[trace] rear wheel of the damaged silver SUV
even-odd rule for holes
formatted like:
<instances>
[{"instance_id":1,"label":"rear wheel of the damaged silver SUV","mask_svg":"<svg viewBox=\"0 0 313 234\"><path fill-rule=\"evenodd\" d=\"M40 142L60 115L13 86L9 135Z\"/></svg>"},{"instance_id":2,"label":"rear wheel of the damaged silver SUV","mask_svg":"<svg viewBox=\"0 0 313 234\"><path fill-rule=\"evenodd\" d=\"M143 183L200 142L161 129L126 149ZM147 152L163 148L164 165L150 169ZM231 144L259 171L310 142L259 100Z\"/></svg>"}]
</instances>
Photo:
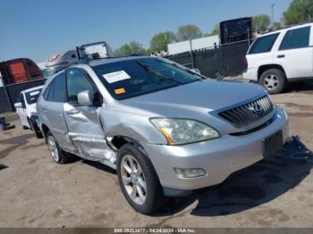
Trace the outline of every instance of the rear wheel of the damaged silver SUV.
<instances>
[{"instance_id":1,"label":"rear wheel of the damaged silver SUV","mask_svg":"<svg viewBox=\"0 0 313 234\"><path fill-rule=\"evenodd\" d=\"M52 159L55 161L55 163L67 163L69 160L68 156L63 153L63 150L60 148L55 137L50 131L47 132L46 140L50 155L52 156Z\"/></svg>"}]
</instances>

